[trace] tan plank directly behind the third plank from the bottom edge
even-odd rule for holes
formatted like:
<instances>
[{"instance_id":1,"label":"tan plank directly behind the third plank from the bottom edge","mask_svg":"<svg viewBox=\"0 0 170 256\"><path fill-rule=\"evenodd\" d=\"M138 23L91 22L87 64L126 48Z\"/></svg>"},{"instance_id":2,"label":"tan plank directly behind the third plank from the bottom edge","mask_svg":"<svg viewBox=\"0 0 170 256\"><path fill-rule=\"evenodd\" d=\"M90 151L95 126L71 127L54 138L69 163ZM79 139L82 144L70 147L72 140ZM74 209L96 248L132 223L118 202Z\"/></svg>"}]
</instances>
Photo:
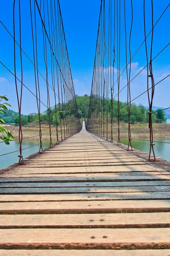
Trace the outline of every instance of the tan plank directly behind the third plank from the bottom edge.
<instances>
[{"instance_id":1,"label":"tan plank directly behind the third plank from the bottom edge","mask_svg":"<svg viewBox=\"0 0 170 256\"><path fill-rule=\"evenodd\" d=\"M0 203L1 214L169 212L170 200Z\"/></svg>"}]
</instances>

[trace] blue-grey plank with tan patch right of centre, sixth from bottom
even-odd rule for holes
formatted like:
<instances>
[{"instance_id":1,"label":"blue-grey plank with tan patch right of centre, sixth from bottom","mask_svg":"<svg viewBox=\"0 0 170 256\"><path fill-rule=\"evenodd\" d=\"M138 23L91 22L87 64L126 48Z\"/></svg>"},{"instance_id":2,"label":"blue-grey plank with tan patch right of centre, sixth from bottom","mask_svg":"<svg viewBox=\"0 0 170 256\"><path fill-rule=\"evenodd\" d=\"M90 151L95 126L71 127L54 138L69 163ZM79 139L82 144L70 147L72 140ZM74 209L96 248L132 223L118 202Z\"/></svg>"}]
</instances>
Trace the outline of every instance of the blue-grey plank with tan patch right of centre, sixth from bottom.
<instances>
[{"instance_id":1,"label":"blue-grey plank with tan patch right of centre, sixth from bottom","mask_svg":"<svg viewBox=\"0 0 170 256\"><path fill-rule=\"evenodd\" d=\"M124 186L124 187L68 187L68 188L0 188L0 194L77 194L121 192L170 192L170 186Z\"/></svg>"}]
</instances>

